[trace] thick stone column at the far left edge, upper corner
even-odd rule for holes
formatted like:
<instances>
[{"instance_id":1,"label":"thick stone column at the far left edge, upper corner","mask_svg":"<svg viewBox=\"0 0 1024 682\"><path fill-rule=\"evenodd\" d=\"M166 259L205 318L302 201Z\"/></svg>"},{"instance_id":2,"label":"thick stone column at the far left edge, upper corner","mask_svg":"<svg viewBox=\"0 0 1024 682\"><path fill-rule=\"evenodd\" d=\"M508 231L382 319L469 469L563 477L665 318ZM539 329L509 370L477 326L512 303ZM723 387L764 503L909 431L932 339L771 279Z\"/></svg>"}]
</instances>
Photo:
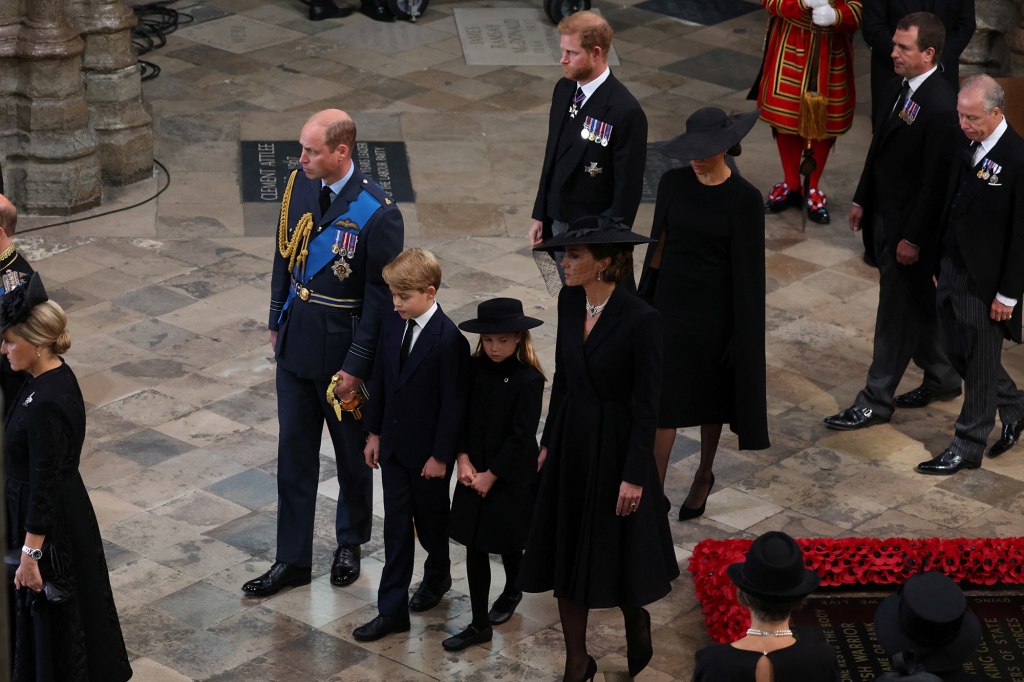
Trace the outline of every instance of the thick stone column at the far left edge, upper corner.
<instances>
[{"instance_id":1,"label":"thick stone column at the far left edge, upper corner","mask_svg":"<svg viewBox=\"0 0 1024 682\"><path fill-rule=\"evenodd\" d=\"M68 215L100 202L84 43L66 2L0 0L0 140L7 191L27 213Z\"/></svg>"}]
</instances>

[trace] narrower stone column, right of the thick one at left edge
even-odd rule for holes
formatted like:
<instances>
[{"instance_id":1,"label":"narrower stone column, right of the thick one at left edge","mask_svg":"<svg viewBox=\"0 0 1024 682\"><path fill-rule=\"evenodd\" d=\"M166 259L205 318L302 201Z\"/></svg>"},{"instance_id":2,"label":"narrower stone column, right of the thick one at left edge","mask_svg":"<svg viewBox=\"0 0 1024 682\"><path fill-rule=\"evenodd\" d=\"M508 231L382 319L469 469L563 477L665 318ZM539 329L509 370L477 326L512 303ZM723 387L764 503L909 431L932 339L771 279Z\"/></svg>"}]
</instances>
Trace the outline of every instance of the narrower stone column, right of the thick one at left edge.
<instances>
[{"instance_id":1,"label":"narrower stone column, right of the thick one at left edge","mask_svg":"<svg viewBox=\"0 0 1024 682\"><path fill-rule=\"evenodd\" d=\"M82 75L99 142L103 184L141 180L153 171L153 119L131 45L135 14L122 0L71 0L71 23L85 41Z\"/></svg>"}]
</instances>

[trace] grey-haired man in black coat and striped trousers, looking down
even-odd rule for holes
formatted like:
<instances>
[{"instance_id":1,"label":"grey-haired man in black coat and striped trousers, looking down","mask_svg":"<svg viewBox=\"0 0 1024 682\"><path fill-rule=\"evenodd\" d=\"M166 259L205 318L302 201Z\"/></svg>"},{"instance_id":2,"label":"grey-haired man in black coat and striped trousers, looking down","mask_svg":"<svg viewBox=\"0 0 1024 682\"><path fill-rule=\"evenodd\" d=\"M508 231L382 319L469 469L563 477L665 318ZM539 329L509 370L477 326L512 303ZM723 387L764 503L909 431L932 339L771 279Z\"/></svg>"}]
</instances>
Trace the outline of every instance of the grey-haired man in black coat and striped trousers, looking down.
<instances>
[{"instance_id":1,"label":"grey-haired man in black coat and striped trousers, looking down","mask_svg":"<svg viewBox=\"0 0 1024 682\"><path fill-rule=\"evenodd\" d=\"M1021 342L1024 294L1024 139L1002 116L1002 88L989 76L964 82L956 100L971 148L948 183L937 305L946 352L964 377L955 435L920 473L977 469L998 410L998 457L1024 430L1024 391L1002 368L1002 340Z\"/></svg>"}]
</instances>

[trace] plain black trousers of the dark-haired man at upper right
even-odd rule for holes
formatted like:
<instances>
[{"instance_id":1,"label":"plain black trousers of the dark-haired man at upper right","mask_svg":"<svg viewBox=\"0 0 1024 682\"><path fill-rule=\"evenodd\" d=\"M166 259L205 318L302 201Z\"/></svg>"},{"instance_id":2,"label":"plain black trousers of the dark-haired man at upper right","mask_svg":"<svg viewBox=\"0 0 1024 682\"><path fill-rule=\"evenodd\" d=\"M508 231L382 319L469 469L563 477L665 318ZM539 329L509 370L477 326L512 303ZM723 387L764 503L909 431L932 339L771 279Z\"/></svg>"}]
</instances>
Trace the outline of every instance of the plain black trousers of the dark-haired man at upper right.
<instances>
[{"instance_id":1,"label":"plain black trousers of the dark-haired man at upper right","mask_svg":"<svg viewBox=\"0 0 1024 682\"><path fill-rule=\"evenodd\" d=\"M881 219L876 219L874 228L880 273L874 349L867 383L854 404L891 417L896 388L911 359L924 370L922 385L929 390L951 391L959 386L961 378L946 357L935 308L924 305L907 286L905 273L900 271L906 266L896 262L895 245L888 244Z\"/></svg>"}]
</instances>

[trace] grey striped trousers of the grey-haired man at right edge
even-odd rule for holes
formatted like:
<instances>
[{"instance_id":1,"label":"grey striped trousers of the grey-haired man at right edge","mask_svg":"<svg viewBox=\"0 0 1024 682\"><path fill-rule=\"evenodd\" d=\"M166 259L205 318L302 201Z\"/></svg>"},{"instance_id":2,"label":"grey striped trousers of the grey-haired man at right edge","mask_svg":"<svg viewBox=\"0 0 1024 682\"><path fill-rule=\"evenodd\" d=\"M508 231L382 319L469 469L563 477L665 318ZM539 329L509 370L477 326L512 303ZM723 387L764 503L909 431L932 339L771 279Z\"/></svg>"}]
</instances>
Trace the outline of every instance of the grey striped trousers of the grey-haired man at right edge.
<instances>
[{"instance_id":1,"label":"grey striped trousers of the grey-haired man at right edge","mask_svg":"<svg viewBox=\"0 0 1024 682\"><path fill-rule=\"evenodd\" d=\"M936 306L946 351L964 377L964 407L949 445L954 454L981 462L995 413L1004 423L1024 419L1024 392L1002 369L1002 327L989 317L992 302L982 299L968 271L942 258Z\"/></svg>"}]
</instances>

